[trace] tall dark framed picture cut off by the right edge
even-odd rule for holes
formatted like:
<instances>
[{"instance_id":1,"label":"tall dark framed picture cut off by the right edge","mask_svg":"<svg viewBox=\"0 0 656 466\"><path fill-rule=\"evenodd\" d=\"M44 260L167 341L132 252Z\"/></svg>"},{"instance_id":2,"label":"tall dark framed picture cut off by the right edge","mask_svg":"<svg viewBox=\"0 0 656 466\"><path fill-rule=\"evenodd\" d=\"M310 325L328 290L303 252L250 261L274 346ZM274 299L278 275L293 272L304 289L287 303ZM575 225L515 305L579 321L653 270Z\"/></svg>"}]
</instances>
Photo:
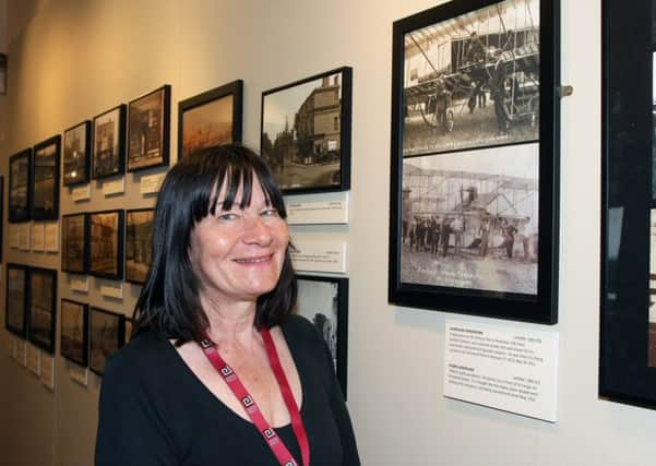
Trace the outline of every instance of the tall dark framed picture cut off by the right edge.
<instances>
[{"instance_id":1,"label":"tall dark framed picture cut off by the right edge","mask_svg":"<svg viewBox=\"0 0 656 466\"><path fill-rule=\"evenodd\" d=\"M656 409L656 10L601 5L599 396Z\"/></svg>"}]
</instances>

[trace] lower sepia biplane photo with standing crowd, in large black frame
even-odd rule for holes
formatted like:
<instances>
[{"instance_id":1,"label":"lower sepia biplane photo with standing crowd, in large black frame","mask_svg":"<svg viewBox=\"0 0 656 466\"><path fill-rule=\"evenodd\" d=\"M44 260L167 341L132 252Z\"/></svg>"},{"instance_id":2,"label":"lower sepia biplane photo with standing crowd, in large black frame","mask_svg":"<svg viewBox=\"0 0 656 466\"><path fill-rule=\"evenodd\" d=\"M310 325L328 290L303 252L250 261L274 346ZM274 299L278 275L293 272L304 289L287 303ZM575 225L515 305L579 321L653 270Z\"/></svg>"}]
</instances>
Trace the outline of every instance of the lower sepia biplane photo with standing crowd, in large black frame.
<instances>
[{"instance_id":1,"label":"lower sepia biplane photo with standing crowd, in large black frame","mask_svg":"<svg viewBox=\"0 0 656 466\"><path fill-rule=\"evenodd\" d=\"M537 294L537 144L405 159L401 279Z\"/></svg>"}]
</instances>

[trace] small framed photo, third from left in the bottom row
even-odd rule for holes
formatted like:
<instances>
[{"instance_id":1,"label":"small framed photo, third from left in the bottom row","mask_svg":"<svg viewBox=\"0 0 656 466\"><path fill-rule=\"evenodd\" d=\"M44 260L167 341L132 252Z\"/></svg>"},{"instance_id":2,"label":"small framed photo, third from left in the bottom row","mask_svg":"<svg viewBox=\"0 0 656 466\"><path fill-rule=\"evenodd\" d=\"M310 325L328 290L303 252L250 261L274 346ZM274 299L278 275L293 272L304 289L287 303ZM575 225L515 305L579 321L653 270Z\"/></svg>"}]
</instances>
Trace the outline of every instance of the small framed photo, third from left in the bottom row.
<instances>
[{"instance_id":1,"label":"small framed photo, third from left in the bottom row","mask_svg":"<svg viewBox=\"0 0 656 466\"><path fill-rule=\"evenodd\" d=\"M88 357L88 304L61 300L61 335L59 353L83 368Z\"/></svg>"}]
</instances>

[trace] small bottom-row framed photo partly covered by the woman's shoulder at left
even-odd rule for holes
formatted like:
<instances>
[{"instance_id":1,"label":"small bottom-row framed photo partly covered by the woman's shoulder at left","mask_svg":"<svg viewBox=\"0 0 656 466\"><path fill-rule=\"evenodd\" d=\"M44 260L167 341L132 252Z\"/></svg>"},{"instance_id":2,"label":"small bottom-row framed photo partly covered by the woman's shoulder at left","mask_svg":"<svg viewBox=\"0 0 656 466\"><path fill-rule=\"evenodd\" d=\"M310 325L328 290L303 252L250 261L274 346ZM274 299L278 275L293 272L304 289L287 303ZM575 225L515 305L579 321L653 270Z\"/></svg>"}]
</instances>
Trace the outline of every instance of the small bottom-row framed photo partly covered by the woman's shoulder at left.
<instances>
[{"instance_id":1,"label":"small bottom-row framed photo partly covered by the woman's shoulder at left","mask_svg":"<svg viewBox=\"0 0 656 466\"><path fill-rule=\"evenodd\" d=\"M124 319L123 314L91 308L88 368L98 375L103 375L107 358L123 346Z\"/></svg>"}]
</instances>

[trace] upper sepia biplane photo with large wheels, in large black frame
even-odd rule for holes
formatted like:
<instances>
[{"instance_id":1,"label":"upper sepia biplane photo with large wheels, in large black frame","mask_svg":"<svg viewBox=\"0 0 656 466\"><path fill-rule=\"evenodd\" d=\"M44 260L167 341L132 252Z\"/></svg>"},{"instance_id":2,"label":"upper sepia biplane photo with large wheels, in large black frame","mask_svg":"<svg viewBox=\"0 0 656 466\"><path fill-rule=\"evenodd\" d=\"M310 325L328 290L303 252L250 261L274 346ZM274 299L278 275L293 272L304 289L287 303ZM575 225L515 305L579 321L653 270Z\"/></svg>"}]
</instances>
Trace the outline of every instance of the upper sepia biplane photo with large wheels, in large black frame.
<instances>
[{"instance_id":1,"label":"upper sepia biplane photo with large wheels, in large black frame","mask_svg":"<svg viewBox=\"0 0 656 466\"><path fill-rule=\"evenodd\" d=\"M539 139L539 0L506 0L404 37L403 154Z\"/></svg>"}]
</instances>

